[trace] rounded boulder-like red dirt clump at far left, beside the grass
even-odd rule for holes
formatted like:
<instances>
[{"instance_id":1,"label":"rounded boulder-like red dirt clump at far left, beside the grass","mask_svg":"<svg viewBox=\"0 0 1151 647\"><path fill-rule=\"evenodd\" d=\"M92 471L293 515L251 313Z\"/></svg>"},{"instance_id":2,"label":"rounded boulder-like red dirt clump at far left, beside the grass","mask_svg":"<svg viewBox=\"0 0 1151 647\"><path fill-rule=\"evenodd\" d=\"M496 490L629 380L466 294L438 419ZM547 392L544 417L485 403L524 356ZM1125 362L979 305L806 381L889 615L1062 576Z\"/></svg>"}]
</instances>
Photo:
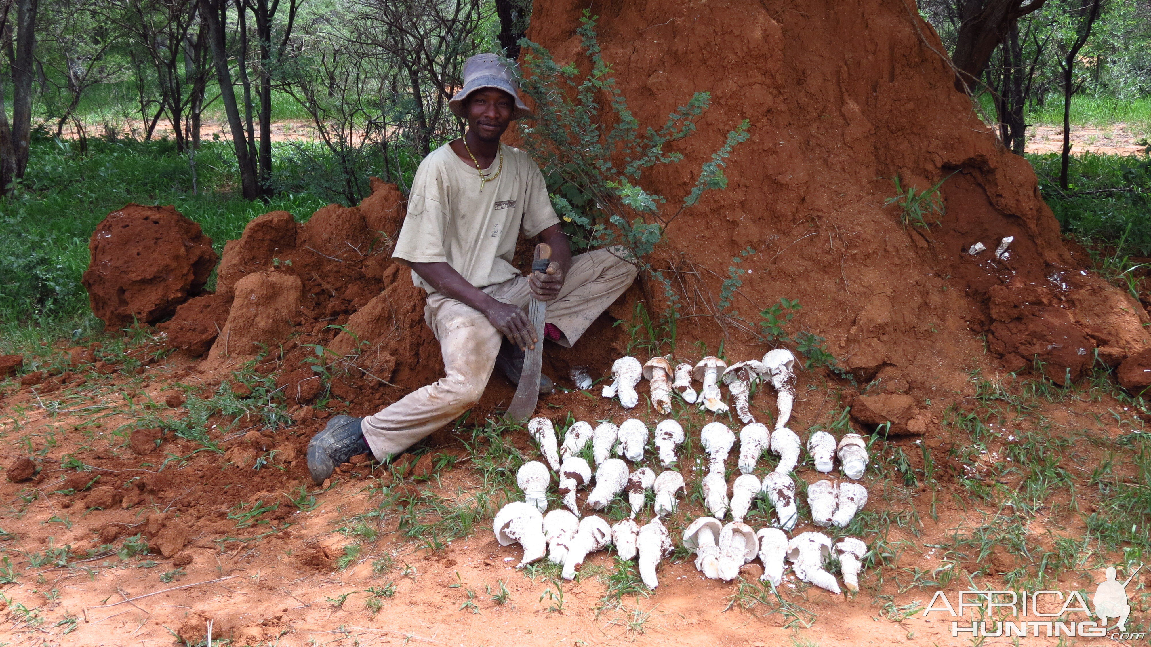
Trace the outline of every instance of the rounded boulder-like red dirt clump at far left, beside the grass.
<instances>
[{"instance_id":1,"label":"rounded boulder-like red dirt clump at far left, beside the grass","mask_svg":"<svg viewBox=\"0 0 1151 647\"><path fill-rule=\"evenodd\" d=\"M125 205L104 219L84 272L92 312L112 328L155 324L196 296L219 257L200 226L170 206Z\"/></svg>"}]
</instances>

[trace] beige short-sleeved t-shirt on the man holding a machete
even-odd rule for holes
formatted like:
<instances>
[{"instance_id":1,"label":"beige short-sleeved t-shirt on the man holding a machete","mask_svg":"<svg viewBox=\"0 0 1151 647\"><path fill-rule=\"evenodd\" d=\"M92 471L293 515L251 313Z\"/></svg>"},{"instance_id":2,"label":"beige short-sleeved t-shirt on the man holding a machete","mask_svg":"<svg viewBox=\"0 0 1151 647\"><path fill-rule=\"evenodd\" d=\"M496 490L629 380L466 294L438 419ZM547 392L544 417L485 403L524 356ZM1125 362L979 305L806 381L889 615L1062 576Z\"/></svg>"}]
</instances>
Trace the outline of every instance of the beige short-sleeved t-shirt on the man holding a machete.
<instances>
[{"instance_id":1,"label":"beige short-sleeved t-shirt on the man holding a machete","mask_svg":"<svg viewBox=\"0 0 1151 647\"><path fill-rule=\"evenodd\" d=\"M501 144L504 166L483 185L474 165L444 144L420 162L407 198L407 216L392 256L411 262L447 261L477 288L519 275L512 267L516 238L532 237L559 218L551 208L540 167L519 149ZM485 175L500 167L496 155ZM416 272L412 283L429 294Z\"/></svg>"}]
</instances>

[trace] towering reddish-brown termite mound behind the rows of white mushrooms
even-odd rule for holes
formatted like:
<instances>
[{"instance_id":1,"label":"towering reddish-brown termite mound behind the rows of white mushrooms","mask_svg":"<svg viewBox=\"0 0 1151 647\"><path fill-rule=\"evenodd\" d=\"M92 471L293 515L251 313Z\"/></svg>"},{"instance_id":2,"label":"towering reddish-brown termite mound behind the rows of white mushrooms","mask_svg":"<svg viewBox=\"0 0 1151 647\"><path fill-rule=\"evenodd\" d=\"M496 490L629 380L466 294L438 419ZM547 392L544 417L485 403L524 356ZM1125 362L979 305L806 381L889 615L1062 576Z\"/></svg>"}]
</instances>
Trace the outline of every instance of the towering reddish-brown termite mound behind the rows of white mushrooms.
<instances>
[{"instance_id":1,"label":"towering reddish-brown termite mound behind the rows of white mushrooms","mask_svg":"<svg viewBox=\"0 0 1151 647\"><path fill-rule=\"evenodd\" d=\"M586 70L576 30L588 8L536 2L528 38ZM1139 304L1065 245L1030 166L954 90L913 2L613 0L590 12L641 123L664 123L693 92L711 94L699 131L670 146L684 162L645 177L669 204L726 132L750 121L726 190L672 222L654 262L683 292L681 314L714 314L732 258L754 248L735 266L747 271L731 306L742 322L693 317L681 337L711 348L724 338L733 359L762 355L746 330L780 297L798 298L793 324L825 337L841 365L917 399L970 388L965 371L976 367L1038 365L1064 382L1097 355L1114 366L1149 347ZM946 178L938 224L905 227L885 205L897 176L921 191ZM986 249L968 253L976 243ZM999 365L986 364L985 348Z\"/></svg>"}]
</instances>

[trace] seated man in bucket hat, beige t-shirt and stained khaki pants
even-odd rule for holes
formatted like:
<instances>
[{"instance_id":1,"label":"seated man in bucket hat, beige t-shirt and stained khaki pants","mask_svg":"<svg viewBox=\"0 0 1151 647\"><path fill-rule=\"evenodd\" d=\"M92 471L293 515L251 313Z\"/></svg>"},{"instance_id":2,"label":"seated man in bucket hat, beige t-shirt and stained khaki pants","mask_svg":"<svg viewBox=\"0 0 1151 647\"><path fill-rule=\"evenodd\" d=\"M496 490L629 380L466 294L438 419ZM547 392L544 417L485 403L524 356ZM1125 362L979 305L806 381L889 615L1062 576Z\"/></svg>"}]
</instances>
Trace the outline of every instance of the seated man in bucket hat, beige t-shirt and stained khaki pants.
<instances>
[{"instance_id":1,"label":"seated man in bucket hat, beige t-shirt and stained khaki pants","mask_svg":"<svg viewBox=\"0 0 1151 647\"><path fill-rule=\"evenodd\" d=\"M374 416L334 417L307 448L317 484L352 456L389 460L451 423L479 402L495 366L518 383L524 349L542 343L525 314L529 299L549 302L544 336L571 348L635 280L619 250L572 258L540 168L500 143L528 111L497 55L467 60L449 106L467 132L420 162L392 252L428 292L424 319L440 340L445 375ZM526 277L512 267L519 235L551 245L548 274ZM540 375L540 393L550 391Z\"/></svg>"}]
</instances>

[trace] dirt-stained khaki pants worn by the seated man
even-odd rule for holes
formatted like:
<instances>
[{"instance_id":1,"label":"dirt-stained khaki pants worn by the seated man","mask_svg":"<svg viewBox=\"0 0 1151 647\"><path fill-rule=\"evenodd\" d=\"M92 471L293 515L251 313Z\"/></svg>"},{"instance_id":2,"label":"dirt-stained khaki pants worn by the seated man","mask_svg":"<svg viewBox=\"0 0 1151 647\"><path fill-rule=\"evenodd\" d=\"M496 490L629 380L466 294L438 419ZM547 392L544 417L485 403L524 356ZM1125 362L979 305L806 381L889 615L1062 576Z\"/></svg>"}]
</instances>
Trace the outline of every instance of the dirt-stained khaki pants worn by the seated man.
<instances>
[{"instance_id":1,"label":"dirt-stained khaki pants worn by the seated man","mask_svg":"<svg viewBox=\"0 0 1151 647\"><path fill-rule=\"evenodd\" d=\"M546 321L563 334L558 343L571 348L632 284L635 274L633 265L609 250L573 258L558 298L548 302ZM532 298L526 276L488 286L483 291L525 310ZM378 460L399 454L467 411L483 395L495 367L503 335L478 310L436 292L428 295L424 319L440 340L447 374L364 418L360 428Z\"/></svg>"}]
</instances>

